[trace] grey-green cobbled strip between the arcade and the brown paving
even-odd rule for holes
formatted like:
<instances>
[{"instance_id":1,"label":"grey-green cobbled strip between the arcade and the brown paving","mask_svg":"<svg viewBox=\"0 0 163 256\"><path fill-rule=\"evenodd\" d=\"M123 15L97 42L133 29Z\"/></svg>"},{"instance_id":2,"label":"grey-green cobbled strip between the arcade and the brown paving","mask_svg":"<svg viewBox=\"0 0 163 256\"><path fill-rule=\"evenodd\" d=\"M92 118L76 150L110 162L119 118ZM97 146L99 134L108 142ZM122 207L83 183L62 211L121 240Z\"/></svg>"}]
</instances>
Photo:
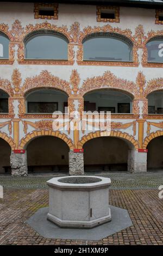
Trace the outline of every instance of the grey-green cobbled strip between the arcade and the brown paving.
<instances>
[{"instance_id":1,"label":"grey-green cobbled strip between the arcade and the brown paving","mask_svg":"<svg viewBox=\"0 0 163 256\"><path fill-rule=\"evenodd\" d=\"M46 181L54 176L65 176L67 173L29 174L27 177L0 175L0 185L5 188L47 188ZM112 189L126 188L158 188L163 185L163 170L147 172L145 174L130 174L127 172L87 172L86 175L99 175L111 179Z\"/></svg>"}]
</instances>

